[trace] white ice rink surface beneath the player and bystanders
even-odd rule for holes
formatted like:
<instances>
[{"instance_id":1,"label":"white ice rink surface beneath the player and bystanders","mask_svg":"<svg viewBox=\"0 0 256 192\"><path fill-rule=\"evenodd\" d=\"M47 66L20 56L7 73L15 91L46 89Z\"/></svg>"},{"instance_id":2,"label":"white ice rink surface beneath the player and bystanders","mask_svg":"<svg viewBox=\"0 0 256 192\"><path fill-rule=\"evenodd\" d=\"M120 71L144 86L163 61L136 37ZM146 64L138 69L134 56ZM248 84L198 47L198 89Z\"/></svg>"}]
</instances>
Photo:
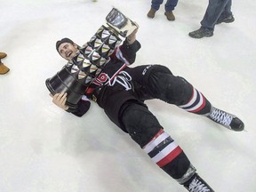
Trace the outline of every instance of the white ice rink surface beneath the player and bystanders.
<instances>
[{"instance_id":1,"label":"white ice rink surface beneath the player and bystanders","mask_svg":"<svg viewBox=\"0 0 256 192\"><path fill-rule=\"evenodd\" d=\"M193 39L208 1L180 0L174 22L164 4L154 20L149 0L0 0L0 52L11 70L0 76L1 192L182 192L96 103L81 118L55 107L44 84L66 63L55 43L86 43L112 7L140 25L133 66L163 64L217 107L239 116L231 132L160 100L147 101L166 132L216 192L256 191L255 2L233 2L235 22ZM254 120L253 120L254 119Z\"/></svg>"}]
</instances>

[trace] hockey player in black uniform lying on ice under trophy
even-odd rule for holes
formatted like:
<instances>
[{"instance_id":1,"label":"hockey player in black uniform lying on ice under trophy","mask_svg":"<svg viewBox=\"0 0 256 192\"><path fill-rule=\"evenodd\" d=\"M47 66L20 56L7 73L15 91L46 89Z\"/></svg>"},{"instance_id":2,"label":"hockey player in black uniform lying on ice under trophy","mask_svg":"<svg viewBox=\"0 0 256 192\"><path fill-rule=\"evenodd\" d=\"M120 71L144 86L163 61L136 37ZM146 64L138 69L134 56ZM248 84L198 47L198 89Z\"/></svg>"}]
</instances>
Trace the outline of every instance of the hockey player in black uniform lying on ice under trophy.
<instances>
[{"instance_id":1,"label":"hockey player in black uniform lying on ice under trophy","mask_svg":"<svg viewBox=\"0 0 256 192\"><path fill-rule=\"evenodd\" d=\"M90 108L90 101L97 101L109 119L132 140L140 145L150 158L177 180L188 191L213 191L196 172L188 156L147 108L144 100L159 99L176 105L190 113L206 116L210 120L240 132L244 123L236 116L212 106L204 95L180 76L172 75L169 68L162 65L142 65L130 68L135 61L140 43L134 30L124 43L118 46L110 60L97 76L88 82L88 89L78 102L77 108L65 104L67 93L56 93L52 101L58 107L83 116ZM56 43L60 56L72 64L79 52L79 46L68 38ZM83 71L81 71L83 73Z\"/></svg>"}]
</instances>

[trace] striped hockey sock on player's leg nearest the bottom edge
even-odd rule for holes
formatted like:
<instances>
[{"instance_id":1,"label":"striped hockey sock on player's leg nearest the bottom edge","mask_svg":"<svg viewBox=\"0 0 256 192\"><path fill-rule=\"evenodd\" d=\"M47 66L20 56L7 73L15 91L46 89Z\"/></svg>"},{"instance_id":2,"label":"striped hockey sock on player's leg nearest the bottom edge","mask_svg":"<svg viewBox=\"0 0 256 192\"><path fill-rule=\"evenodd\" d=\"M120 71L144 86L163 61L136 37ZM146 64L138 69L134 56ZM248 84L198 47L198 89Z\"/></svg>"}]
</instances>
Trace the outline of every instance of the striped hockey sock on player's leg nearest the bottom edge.
<instances>
[{"instance_id":1,"label":"striped hockey sock on player's leg nearest the bottom edge","mask_svg":"<svg viewBox=\"0 0 256 192\"><path fill-rule=\"evenodd\" d=\"M188 172L190 167L188 157L163 129L148 142L143 150L173 179L179 180Z\"/></svg>"}]
</instances>

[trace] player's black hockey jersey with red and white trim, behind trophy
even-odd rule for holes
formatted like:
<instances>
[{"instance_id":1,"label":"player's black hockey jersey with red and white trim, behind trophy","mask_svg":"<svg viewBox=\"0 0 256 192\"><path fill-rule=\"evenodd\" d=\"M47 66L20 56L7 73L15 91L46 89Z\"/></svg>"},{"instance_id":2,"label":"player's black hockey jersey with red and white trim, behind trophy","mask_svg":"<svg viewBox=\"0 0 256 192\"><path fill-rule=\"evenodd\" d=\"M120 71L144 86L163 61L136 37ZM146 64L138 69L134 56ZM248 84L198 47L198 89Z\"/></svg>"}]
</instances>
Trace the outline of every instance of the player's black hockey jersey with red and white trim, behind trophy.
<instances>
[{"instance_id":1,"label":"player's black hockey jersey with red and white trim, behind trophy","mask_svg":"<svg viewBox=\"0 0 256 192\"><path fill-rule=\"evenodd\" d=\"M97 100L100 107L102 107L98 98L100 90L104 86L111 86L111 84L113 84L115 76L123 73L124 68L135 61L136 52L139 50L140 43L137 40L133 44L127 44L125 40L124 43L118 46L115 52L110 55L109 61L104 68L97 68L97 70L95 70L95 74L97 75L92 78L91 81L86 82L88 88L84 93L85 96L77 103L77 108L68 108L67 111L76 116L83 116L90 108L90 100ZM88 100L88 98L90 100Z\"/></svg>"}]
</instances>

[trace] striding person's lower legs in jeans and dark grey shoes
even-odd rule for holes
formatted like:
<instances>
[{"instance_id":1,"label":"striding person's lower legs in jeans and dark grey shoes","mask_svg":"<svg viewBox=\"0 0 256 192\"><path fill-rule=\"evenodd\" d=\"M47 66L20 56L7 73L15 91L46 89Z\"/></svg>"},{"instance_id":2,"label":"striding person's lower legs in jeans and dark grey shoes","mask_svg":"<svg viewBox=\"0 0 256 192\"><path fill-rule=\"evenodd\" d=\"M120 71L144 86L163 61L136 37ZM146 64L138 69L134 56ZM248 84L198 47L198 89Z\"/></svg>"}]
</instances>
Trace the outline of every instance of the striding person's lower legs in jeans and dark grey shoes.
<instances>
[{"instance_id":1,"label":"striding person's lower legs in jeans and dark grey shoes","mask_svg":"<svg viewBox=\"0 0 256 192\"><path fill-rule=\"evenodd\" d=\"M188 34L193 38L213 36L214 27L221 22L230 23L235 20L231 12L232 0L209 0L208 7L201 21L201 28Z\"/></svg>"}]
</instances>

